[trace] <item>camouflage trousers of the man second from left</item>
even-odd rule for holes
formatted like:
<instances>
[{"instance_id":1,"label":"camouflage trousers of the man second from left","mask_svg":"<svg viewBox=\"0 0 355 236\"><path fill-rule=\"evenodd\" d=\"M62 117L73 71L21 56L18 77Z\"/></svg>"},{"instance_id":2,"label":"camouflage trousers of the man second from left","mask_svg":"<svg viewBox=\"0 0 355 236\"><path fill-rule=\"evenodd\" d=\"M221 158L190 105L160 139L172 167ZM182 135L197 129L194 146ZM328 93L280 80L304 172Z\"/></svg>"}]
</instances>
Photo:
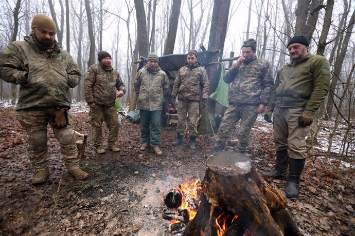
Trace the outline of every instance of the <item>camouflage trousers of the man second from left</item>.
<instances>
[{"instance_id":1,"label":"camouflage trousers of the man second from left","mask_svg":"<svg viewBox=\"0 0 355 236\"><path fill-rule=\"evenodd\" d=\"M91 140L96 148L102 147L102 123L109 129L108 144L113 145L118 137L118 120L115 106L96 104L90 108L89 121L92 127Z\"/></svg>"}]
</instances>

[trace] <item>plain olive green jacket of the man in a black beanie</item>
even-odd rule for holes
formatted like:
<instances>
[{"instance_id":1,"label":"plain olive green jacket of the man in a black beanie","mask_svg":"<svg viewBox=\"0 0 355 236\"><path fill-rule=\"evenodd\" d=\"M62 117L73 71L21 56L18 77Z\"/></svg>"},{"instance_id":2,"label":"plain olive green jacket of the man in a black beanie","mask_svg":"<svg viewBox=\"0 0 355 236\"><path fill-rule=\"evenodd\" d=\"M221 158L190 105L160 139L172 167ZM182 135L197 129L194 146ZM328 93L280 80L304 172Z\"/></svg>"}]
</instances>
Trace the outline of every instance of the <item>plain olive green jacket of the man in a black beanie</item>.
<instances>
[{"instance_id":1,"label":"plain olive green jacket of the man in a black beanie","mask_svg":"<svg viewBox=\"0 0 355 236\"><path fill-rule=\"evenodd\" d=\"M307 54L277 71L268 107L305 107L316 111L329 92L330 65L323 56Z\"/></svg>"}]
</instances>

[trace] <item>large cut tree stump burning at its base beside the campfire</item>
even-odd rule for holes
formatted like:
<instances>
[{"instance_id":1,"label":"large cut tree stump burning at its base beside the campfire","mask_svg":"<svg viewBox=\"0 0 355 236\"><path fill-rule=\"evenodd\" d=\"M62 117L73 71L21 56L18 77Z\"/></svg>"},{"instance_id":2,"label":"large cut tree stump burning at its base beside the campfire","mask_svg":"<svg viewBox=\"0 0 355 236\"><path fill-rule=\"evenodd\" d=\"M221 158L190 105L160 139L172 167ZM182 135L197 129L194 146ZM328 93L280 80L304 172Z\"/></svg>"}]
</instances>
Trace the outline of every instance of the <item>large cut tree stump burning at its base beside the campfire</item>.
<instances>
[{"instance_id":1,"label":"large cut tree stump burning at its base beside the campfire","mask_svg":"<svg viewBox=\"0 0 355 236\"><path fill-rule=\"evenodd\" d=\"M264 182L252 161L239 152L219 152L207 160L202 191L185 235L220 234L216 219L221 214L230 221L224 235L302 235L285 210L285 195Z\"/></svg>"}]
</instances>

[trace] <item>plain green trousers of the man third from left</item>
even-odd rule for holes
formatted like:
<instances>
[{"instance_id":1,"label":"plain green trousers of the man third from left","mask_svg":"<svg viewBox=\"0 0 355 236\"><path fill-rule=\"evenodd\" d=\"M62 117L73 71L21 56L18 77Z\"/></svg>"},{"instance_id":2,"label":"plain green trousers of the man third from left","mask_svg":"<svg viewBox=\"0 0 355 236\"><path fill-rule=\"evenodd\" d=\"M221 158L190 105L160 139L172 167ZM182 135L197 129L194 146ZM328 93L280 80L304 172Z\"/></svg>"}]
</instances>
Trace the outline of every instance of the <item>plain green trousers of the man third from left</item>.
<instances>
[{"instance_id":1,"label":"plain green trousers of the man third from left","mask_svg":"<svg viewBox=\"0 0 355 236\"><path fill-rule=\"evenodd\" d=\"M159 147L162 133L160 126L161 113L162 111L139 110L142 143L150 143L151 147Z\"/></svg>"}]
</instances>

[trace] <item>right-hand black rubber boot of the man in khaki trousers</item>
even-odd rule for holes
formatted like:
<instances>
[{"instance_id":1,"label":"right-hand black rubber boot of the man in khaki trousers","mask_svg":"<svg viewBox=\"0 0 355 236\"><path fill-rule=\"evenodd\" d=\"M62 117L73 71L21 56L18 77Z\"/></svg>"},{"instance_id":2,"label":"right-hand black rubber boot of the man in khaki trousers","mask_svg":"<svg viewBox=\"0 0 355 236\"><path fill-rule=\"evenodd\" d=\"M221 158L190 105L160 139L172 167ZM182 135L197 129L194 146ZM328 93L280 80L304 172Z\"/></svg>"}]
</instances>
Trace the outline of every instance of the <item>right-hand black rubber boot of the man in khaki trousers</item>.
<instances>
[{"instance_id":1,"label":"right-hand black rubber boot of the man in khaki trousers","mask_svg":"<svg viewBox=\"0 0 355 236\"><path fill-rule=\"evenodd\" d=\"M306 159L290 158L290 171L285 187L285 193L288 198L297 198L299 193L299 179L305 166Z\"/></svg>"}]
</instances>

